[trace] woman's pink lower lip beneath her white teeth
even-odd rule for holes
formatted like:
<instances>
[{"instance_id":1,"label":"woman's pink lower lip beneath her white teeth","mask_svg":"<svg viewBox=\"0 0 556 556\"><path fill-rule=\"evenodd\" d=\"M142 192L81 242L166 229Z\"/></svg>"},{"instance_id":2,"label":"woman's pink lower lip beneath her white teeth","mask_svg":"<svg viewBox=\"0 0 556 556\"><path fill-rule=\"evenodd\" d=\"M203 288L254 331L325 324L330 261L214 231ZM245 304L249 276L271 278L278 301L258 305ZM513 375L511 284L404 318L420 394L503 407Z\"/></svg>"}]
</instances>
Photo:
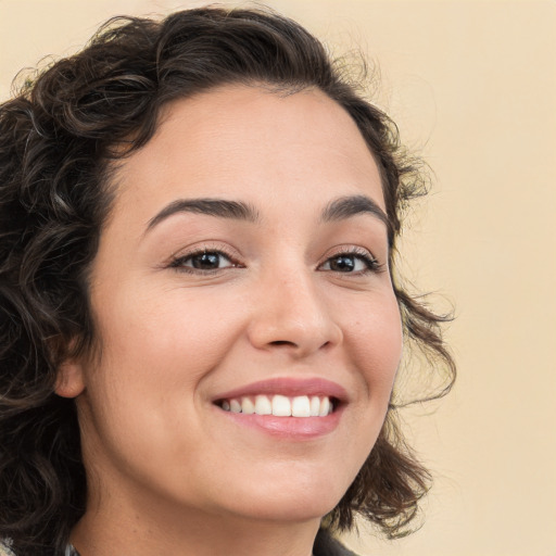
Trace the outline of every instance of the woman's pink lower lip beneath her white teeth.
<instances>
[{"instance_id":1,"label":"woman's pink lower lip beneath her white teeth","mask_svg":"<svg viewBox=\"0 0 556 556\"><path fill-rule=\"evenodd\" d=\"M216 409L241 427L258 429L273 437L303 441L332 432L340 422L343 407L338 407L326 417L275 417L274 415L225 412L219 407Z\"/></svg>"}]
</instances>

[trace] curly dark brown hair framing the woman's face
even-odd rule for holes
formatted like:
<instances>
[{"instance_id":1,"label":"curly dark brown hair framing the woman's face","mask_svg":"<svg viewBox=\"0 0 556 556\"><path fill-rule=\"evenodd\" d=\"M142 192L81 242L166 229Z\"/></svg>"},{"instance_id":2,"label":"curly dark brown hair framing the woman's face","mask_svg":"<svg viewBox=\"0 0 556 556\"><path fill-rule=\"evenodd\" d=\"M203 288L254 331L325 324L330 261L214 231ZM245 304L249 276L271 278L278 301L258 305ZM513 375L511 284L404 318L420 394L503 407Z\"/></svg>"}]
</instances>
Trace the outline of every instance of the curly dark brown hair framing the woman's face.
<instances>
[{"instance_id":1,"label":"curly dark brown hair framing the woman's face","mask_svg":"<svg viewBox=\"0 0 556 556\"><path fill-rule=\"evenodd\" d=\"M75 404L54 384L60 363L94 340L88 269L111 207L111 169L149 141L163 105L225 84L318 88L345 109L381 172L391 257L407 201L425 192L391 119L316 38L269 11L117 17L81 52L28 79L0 106L0 539L21 555L64 554L85 511ZM406 345L427 355L427 371L445 376L440 391L427 388L421 399L439 396L455 377L444 318L392 280ZM348 529L358 513L389 536L406 532L430 476L405 444L395 412L392 402L325 527Z\"/></svg>"}]
</instances>

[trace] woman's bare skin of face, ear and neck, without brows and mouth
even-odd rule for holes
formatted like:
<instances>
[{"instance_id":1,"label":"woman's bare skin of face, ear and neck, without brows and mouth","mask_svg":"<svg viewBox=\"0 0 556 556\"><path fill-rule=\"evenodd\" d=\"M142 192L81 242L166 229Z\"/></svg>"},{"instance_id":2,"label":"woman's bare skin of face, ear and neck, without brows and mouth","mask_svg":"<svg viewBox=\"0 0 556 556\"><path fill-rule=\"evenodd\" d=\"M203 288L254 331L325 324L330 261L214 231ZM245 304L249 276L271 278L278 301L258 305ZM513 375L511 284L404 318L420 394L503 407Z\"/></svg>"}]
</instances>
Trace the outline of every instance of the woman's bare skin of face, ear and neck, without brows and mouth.
<instances>
[{"instance_id":1,"label":"woman's bare skin of face, ear and neck, without brows and mouth","mask_svg":"<svg viewBox=\"0 0 556 556\"><path fill-rule=\"evenodd\" d=\"M384 210L377 165L317 90L226 86L162 116L114 177L91 271L101 356L60 370L89 481L72 541L83 556L309 556L376 441L401 356L384 223L321 218L346 195ZM247 203L258 219L179 212L148 229L198 198ZM200 271L188 258L199 250L229 260ZM334 266L342 253L353 271ZM336 428L276 437L213 403L267 378L340 384Z\"/></svg>"}]
</instances>

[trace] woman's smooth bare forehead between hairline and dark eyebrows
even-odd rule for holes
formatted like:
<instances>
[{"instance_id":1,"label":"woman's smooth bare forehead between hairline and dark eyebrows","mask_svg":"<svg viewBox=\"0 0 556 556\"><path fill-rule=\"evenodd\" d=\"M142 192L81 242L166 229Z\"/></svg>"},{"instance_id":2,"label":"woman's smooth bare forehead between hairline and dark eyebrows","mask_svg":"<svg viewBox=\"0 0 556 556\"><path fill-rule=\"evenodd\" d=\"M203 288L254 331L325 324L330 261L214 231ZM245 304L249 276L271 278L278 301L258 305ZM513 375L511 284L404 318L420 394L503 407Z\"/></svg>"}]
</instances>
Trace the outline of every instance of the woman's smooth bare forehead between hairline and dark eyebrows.
<instances>
[{"instance_id":1,"label":"woman's smooth bare forehead between hairline and dark eyebrows","mask_svg":"<svg viewBox=\"0 0 556 556\"><path fill-rule=\"evenodd\" d=\"M281 94L225 86L173 101L115 181L116 205L141 202L150 213L144 222L178 197L326 204L363 193L384 208L380 175L357 126L315 89Z\"/></svg>"}]
</instances>

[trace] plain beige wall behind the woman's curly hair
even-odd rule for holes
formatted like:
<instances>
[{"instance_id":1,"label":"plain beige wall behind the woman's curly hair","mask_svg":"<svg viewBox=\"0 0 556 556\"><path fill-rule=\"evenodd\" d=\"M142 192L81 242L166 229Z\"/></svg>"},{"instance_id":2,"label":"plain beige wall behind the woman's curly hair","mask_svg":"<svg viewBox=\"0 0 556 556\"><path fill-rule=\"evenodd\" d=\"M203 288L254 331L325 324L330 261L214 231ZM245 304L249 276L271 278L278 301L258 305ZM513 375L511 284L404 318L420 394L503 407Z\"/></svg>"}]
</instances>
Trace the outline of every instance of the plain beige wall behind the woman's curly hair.
<instances>
[{"instance_id":1,"label":"plain beige wall behind the woman's curly hair","mask_svg":"<svg viewBox=\"0 0 556 556\"><path fill-rule=\"evenodd\" d=\"M230 2L225 2L230 3ZM0 0L0 97L108 16L201 2ZM422 529L362 555L556 556L556 2L268 0L380 64L377 102L435 172L412 278L455 303L459 380L406 412L437 483Z\"/></svg>"}]
</instances>

